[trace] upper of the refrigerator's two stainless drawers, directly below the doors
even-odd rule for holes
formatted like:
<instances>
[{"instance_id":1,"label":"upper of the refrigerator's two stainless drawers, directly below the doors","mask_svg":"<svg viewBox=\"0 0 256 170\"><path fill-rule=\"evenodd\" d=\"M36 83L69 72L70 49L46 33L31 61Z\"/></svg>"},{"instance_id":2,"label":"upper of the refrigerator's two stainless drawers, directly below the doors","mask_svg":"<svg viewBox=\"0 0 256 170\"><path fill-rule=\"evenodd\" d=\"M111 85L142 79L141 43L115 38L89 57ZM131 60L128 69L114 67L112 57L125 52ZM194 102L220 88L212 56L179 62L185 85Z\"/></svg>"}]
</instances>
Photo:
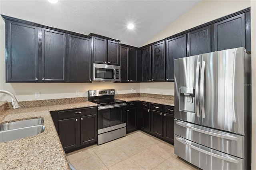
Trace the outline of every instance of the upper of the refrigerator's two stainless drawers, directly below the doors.
<instances>
[{"instance_id":1,"label":"upper of the refrigerator's two stainless drawers, directly below the doors","mask_svg":"<svg viewBox=\"0 0 256 170\"><path fill-rule=\"evenodd\" d=\"M244 158L244 136L222 132L175 119L174 134L198 144Z\"/></svg>"}]
</instances>

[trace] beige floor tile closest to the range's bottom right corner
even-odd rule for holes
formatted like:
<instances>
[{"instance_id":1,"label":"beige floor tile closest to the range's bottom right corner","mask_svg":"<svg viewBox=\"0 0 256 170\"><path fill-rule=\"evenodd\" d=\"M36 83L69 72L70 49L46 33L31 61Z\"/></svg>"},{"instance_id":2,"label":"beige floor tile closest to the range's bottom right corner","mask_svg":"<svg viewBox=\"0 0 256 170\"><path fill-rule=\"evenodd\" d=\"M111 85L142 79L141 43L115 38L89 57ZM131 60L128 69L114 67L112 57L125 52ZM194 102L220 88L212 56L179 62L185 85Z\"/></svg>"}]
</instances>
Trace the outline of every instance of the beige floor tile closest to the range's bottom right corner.
<instances>
[{"instance_id":1,"label":"beige floor tile closest to the range's bottom right corner","mask_svg":"<svg viewBox=\"0 0 256 170\"><path fill-rule=\"evenodd\" d=\"M128 156L133 156L142 152L146 148L136 141L128 140L119 145L119 148Z\"/></svg>"}]
</instances>

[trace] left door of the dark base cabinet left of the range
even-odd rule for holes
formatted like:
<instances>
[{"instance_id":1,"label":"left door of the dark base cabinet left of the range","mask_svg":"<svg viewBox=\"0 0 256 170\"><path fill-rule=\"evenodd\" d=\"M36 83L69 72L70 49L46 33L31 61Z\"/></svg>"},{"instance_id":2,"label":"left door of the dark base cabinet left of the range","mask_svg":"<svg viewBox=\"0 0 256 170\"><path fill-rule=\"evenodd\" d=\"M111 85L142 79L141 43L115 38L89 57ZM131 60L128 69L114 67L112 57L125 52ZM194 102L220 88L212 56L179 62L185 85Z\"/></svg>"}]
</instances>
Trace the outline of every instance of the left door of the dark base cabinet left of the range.
<instances>
[{"instance_id":1,"label":"left door of the dark base cabinet left of the range","mask_svg":"<svg viewBox=\"0 0 256 170\"><path fill-rule=\"evenodd\" d=\"M58 134L65 151L80 145L79 119L77 117L58 121Z\"/></svg>"}]
</instances>

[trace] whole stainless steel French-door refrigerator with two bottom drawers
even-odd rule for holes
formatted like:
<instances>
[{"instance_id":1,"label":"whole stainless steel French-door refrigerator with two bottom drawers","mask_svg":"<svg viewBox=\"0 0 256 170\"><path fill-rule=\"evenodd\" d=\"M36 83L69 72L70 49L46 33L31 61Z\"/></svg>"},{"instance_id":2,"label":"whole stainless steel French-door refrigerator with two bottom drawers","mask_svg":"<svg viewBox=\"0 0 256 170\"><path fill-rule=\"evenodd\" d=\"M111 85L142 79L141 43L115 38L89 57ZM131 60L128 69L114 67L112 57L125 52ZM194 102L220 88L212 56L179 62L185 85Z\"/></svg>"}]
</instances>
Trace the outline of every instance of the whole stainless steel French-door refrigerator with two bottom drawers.
<instances>
[{"instance_id":1,"label":"whole stainless steel French-door refrigerator with two bottom drawers","mask_svg":"<svg viewBox=\"0 0 256 170\"><path fill-rule=\"evenodd\" d=\"M174 153L205 170L247 170L251 63L243 47L176 59Z\"/></svg>"}]
</instances>

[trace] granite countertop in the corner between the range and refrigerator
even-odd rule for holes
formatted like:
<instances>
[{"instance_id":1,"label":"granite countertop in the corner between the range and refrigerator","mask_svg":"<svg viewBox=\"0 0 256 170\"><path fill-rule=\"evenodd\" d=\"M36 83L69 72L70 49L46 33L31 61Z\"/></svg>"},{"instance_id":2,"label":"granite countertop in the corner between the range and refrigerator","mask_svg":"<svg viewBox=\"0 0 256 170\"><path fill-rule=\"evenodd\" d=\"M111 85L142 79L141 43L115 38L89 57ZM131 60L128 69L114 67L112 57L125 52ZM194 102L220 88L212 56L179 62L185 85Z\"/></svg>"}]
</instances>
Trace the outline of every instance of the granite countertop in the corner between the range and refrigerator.
<instances>
[{"instance_id":1,"label":"granite countertop in the corner between the range and refrigerator","mask_svg":"<svg viewBox=\"0 0 256 170\"><path fill-rule=\"evenodd\" d=\"M168 106L174 106L174 100L168 100L168 99L158 99L158 98L151 98L151 97L127 97L127 98L117 98L120 100L124 100L126 102L130 101L144 101L149 103L156 103L160 105L168 105Z\"/></svg>"}]
</instances>

